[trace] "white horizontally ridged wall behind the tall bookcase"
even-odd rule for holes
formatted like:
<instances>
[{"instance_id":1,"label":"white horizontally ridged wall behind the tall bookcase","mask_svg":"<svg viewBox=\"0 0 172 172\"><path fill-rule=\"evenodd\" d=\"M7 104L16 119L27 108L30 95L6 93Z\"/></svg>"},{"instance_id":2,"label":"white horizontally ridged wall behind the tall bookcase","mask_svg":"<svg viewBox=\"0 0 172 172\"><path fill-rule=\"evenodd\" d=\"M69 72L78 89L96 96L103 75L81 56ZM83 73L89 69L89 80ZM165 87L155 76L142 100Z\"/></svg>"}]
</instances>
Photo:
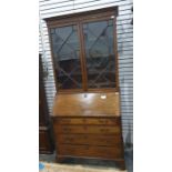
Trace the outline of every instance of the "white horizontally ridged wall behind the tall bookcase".
<instances>
[{"instance_id":1,"label":"white horizontally ridged wall behind the tall bookcase","mask_svg":"<svg viewBox=\"0 0 172 172\"><path fill-rule=\"evenodd\" d=\"M40 0L40 53L48 77L44 79L49 113L55 94L48 29L44 18L119 6L117 18L119 77L121 89L121 113L124 143L132 143L133 136L133 27L132 0Z\"/></svg>"}]
</instances>

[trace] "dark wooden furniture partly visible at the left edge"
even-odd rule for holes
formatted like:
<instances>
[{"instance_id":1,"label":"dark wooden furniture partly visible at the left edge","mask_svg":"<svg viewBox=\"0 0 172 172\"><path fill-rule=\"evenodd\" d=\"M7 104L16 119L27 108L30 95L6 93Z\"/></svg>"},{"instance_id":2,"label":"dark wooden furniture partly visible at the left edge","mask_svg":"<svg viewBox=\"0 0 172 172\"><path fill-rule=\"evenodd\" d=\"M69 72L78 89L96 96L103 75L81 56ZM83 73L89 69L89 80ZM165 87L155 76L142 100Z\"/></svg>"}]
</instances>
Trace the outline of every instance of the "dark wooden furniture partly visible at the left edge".
<instances>
[{"instance_id":1,"label":"dark wooden furniture partly visible at the left edge","mask_svg":"<svg viewBox=\"0 0 172 172\"><path fill-rule=\"evenodd\" d=\"M48 115L48 104L43 87L43 70L41 55L39 55L39 153L53 153L51 127Z\"/></svg>"}]
</instances>

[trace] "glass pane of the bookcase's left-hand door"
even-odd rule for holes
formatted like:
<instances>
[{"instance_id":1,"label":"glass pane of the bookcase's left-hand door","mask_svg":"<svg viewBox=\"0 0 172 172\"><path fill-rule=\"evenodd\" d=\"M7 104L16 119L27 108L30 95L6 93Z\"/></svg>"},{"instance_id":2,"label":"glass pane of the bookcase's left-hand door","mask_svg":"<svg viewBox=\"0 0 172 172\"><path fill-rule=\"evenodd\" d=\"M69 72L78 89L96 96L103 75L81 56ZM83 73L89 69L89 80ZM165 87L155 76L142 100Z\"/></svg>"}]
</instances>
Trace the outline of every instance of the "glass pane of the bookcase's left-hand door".
<instances>
[{"instance_id":1,"label":"glass pane of the bookcase's left-hand door","mask_svg":"<svg viewBox=\"0 0 172 172\"><path fill-rule=\"evenodd\" d=\"M79 39L75 26L51 29L58 89L82 88Z\"/></svg>"}]
</instances>

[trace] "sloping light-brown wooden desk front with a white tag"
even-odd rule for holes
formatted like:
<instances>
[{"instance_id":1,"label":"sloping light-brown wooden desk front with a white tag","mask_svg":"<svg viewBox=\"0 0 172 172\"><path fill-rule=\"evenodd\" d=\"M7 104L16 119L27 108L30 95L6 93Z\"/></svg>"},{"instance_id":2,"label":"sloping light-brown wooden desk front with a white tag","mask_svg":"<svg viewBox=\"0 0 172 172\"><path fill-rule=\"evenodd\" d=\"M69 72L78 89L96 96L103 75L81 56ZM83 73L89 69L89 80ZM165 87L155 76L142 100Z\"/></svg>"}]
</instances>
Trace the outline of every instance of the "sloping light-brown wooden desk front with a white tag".
<instances>
[{"instance_id":1,"label":"sloping light-brown wooden desk front with a white tag","mask_svg":"<svg viewBox=\"0 0 172 172\"><path fill-rule=\"evenodd\" d=\"M53 117L120 115L118 92L58 94Z\"/></svg>"}]
</instances>

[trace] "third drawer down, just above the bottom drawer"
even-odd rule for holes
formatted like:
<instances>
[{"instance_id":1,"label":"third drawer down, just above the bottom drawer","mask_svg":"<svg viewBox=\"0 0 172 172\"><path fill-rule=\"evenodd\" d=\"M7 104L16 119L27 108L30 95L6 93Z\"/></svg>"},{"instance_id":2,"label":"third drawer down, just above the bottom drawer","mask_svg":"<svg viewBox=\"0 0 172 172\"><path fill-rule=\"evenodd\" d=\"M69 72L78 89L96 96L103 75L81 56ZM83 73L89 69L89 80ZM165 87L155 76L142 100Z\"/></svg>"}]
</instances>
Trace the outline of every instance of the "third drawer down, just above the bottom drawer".
<instances>
[{"instance_id":1,"label":"third drawer down, just above the bottom drawer","mask_svg":"<svg viewBox=\"0 0 172 172\"><path fill-rule=\"evenodd\" d=\"M89 144L89 145L115 145L120 146L122 139L118 135L103 134L59 134L58 144Z\"/></svg>"}]
</instances>

